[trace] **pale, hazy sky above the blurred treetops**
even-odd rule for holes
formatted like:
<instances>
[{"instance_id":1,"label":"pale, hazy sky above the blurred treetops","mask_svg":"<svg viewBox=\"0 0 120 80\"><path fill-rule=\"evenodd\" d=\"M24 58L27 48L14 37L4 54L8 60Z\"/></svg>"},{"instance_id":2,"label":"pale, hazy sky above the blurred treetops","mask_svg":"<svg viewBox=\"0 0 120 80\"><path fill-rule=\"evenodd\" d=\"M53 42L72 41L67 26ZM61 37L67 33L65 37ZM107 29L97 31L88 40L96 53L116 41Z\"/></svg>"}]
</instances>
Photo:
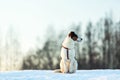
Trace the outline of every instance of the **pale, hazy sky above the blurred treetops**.
<instances>
[{"instance_id":1,"label":"pale, hazy sky above the blurred treetops","mask_svg":"<svg viewBox=\"0 0 120 80\"><path fill-rule=\"evenodd\" d=\"M84 28L109 12L115 21L120 19L120 0L0 0L0 29L5 36L12 26L27 49L37 36L44 41L49 26L59 32L81 22Z\"/></svg>"}]
</instances>

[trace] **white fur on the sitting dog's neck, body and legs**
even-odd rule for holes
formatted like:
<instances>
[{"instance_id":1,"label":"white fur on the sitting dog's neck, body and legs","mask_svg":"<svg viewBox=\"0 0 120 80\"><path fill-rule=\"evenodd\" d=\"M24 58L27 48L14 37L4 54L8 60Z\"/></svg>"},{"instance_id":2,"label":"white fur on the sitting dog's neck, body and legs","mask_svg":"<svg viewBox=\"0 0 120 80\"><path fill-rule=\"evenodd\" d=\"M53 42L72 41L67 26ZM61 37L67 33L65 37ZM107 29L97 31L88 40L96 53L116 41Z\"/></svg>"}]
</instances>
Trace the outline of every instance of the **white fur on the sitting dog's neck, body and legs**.
<instances>
[{"instance_id":1,"label":"white fur on the sitting dog's neck, body and legs","mask_svg":"<svg viewBox=\"0 0 120 80\"><path fill-rule=\"evenodd\" d=\"M75 49L74 49L74 40L71 37L67 36L62 43L62 46L69 48L67 59L67 49L61 48L61 62L60 62L60 70L62 73L74 73L77 70L78 64L75 60Z\"/></svg>"}]
</instances>

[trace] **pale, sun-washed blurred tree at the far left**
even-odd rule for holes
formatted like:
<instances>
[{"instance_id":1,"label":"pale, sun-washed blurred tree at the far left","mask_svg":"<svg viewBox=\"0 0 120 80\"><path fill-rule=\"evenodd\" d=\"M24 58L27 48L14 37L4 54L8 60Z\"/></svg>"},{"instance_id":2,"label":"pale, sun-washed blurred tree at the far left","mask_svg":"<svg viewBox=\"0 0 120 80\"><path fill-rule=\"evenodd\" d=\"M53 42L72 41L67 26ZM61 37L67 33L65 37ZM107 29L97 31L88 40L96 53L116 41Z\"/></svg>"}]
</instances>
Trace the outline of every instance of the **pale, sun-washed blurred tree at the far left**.
<instances>
[{"instance_id":1,"label":"pale, sun-washed blurred tree at the far left","mask_svg":"<svg viewBox=\"0 0 120 80\"><path fill-rule=\"evenodd\" d=\"M5 70L18 70L21 68L22 58L20 42L17 32L11 26L6 33L6 42L4 49L4 68Z\"/></svg>"}]
</instances>

